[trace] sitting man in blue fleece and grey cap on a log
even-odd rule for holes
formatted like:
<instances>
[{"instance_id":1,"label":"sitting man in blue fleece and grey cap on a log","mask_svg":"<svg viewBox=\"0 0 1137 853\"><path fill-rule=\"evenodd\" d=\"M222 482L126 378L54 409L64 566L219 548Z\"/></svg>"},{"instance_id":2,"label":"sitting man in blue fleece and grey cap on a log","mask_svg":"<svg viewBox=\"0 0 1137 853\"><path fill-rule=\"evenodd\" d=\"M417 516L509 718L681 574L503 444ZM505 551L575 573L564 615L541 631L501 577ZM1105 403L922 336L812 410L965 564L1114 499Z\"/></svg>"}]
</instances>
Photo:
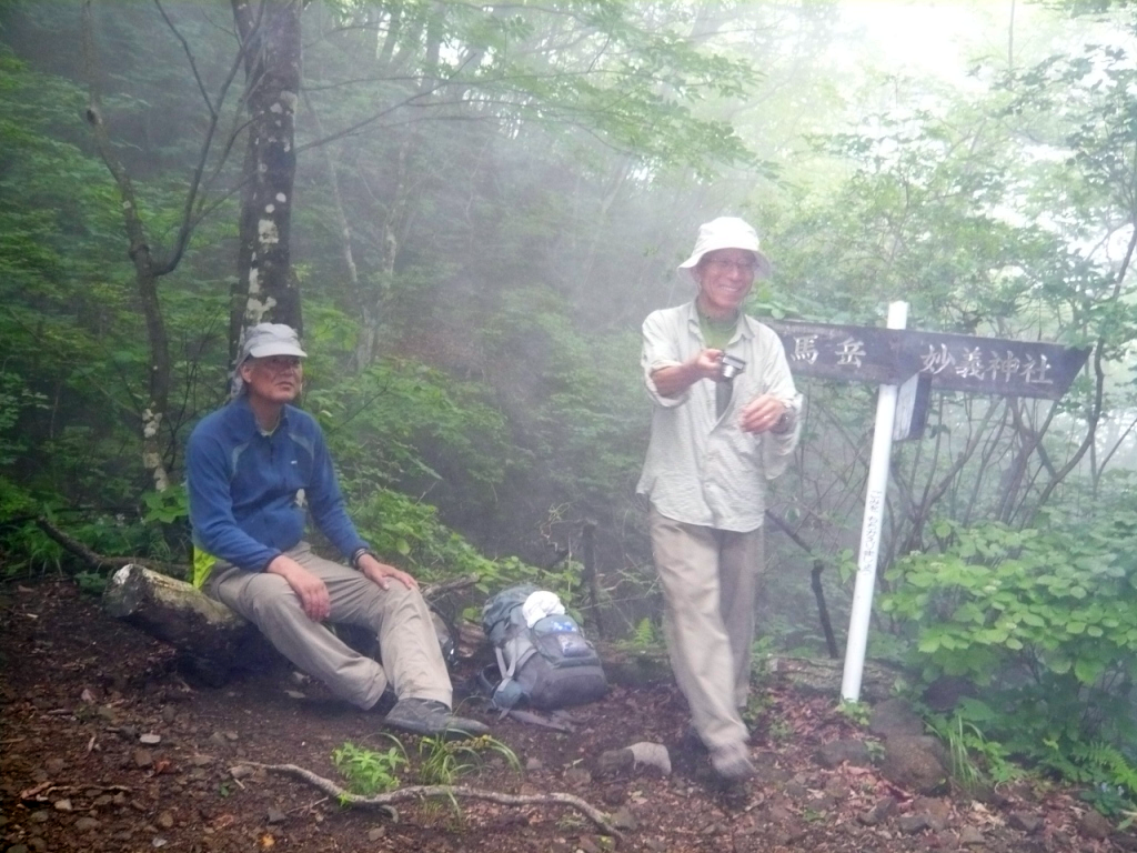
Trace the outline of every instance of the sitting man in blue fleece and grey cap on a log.
<instances>
[{"instance_id":1,"label":"sitting man in blue fleece and grey cap on a log","mask_svg":"<svg viewBox=\"0 0 1137 853\"><path fill-rule=\"evenodd\" d=\"M416 735L482 735L450 711L453 689L418 583L381 563L343 508L324 436L290 405L300 394L296 331L262 323L246 336L241 391L194 428L186 450L194 585L254 622L293 664L337 696L372 709L390 686L385 724ZM354 569L304 541L306 514ZM381 662L324 620L374 631Z\"/></svg>"}]
</instances>

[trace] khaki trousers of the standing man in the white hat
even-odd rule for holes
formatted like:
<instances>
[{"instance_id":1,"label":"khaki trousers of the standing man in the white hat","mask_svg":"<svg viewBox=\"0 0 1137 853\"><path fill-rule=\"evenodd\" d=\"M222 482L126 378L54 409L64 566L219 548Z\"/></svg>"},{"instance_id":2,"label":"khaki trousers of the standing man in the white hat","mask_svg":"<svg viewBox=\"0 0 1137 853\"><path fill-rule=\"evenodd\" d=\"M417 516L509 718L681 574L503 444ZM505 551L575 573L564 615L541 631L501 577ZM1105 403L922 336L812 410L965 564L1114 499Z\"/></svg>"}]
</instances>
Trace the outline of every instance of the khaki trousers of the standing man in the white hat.
<instances>
[{"instance_id":1,"label":"khaki trousers of the standing man in the white hat","mask_svg":"<svg viewBox=\"0 0 1137 853\"><path fill-rule=\"evenodd\" d=\"M671 668L695 730L709 750L745 743L739 709L750 688L762 528L736 533L684 524L654 506L648 521Z\"/></svg>"}]
</instances>

